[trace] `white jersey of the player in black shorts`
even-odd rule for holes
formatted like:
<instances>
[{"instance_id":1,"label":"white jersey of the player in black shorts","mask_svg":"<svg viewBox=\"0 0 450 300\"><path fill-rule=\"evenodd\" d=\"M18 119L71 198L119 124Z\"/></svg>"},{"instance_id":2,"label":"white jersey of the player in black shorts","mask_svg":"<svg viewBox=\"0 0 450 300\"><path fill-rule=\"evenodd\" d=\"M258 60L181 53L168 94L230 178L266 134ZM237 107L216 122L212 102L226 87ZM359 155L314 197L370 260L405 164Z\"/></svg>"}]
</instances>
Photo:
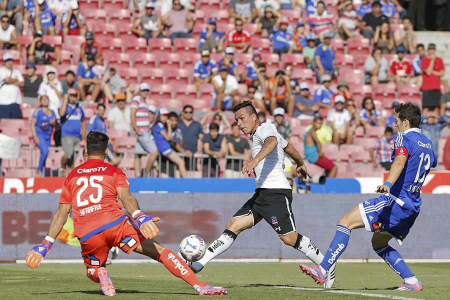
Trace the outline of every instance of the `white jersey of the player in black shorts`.
<instances>
[{"instance_id":1,"label":"white jersey of the player in black shorts","mask_svg":"<svg viewBox=\"0 0 450 300\"><path fill-rule=\"evenodd\" d=\"M273 151L259 161L254 168L256 188L288 188L289 182L284 175L284 148L287 141L279 135L273 123L261 123L251 135L251 157L254 158L261 150L264 140L269 136L275 136L278 144Z\"/></svg>"}]
</instances>

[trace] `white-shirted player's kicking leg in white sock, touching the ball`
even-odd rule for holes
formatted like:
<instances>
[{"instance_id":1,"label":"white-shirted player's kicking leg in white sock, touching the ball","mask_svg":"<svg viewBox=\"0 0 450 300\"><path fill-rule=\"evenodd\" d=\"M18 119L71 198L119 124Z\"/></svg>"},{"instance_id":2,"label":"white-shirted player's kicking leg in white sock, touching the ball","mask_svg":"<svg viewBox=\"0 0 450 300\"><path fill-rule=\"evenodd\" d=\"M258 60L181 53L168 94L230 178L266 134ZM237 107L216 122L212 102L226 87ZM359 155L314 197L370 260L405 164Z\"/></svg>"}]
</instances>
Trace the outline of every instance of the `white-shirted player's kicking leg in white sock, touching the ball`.
<instances>
[{"instance_id":1,"label":"white-shirted player's kicking leg in white sock, touching the ball","mask_svg":"<svg viewBox=\"0 0 450 300\"><path fill-rule=\"evenodd\" d=\"M194 273L198 273L212 258L226 251L234 242L237 234L247 228L253 226L253 215L251 213L233 217L225 226L223 233L214 240L206 249L203 257L198 261L194 261L189 264Z\"/></svg>"}]
</instances>

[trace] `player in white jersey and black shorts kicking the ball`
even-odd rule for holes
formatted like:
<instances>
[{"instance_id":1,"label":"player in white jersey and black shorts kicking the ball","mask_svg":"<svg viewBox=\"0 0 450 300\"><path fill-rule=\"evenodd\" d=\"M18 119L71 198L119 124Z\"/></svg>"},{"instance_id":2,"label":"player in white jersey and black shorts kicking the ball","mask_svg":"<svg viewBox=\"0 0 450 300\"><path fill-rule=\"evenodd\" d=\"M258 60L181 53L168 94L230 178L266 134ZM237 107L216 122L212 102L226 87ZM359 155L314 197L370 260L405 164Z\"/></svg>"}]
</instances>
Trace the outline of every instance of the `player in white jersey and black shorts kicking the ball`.
<instances>
[{"instance_id":1,"label":"player in white jersey and black shorts kicking the ball","mask_svg":"<svg viewBox=\"0 0 450 300\"><path fill-rule=\"evenodd\" d=\"M226 224L223 233L214 240L204 256L189 264L194 272L199 272L212 258L228 249L237 235L251 228L262 218L278 233L281 240L306 255L312 261L321 261L322 253L315 244L295 229L292 214L292 188L284 174L284 153L297 164L298 176L311 177L297 150L279 135L275 125L260 122L250 101L239 103L233 108L234 118L240 130L250 134L252 139L251 157L242 166L242 173L254 173L256 190L251 199L237 210ZM329 272L325 287L331 287L334 272Z\"/></svg>"}]
</instances>

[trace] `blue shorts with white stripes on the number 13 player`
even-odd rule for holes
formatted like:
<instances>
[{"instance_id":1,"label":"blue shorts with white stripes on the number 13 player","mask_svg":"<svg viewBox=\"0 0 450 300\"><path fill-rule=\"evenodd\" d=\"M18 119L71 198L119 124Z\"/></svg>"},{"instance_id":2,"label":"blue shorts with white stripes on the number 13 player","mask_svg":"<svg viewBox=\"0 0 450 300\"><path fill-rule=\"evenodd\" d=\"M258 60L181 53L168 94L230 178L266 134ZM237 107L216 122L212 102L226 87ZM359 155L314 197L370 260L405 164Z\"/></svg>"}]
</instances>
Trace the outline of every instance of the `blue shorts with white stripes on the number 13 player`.
<instances>
[{"instance_id":1,"label":"blue shorts with white stripes on the number 13 player","mask_svg":"<svg viewBox=\"0 0 450 300\"><path fill-rule=\"evenodd\" d=\"M365 229L390 234L401 244L418 215L418 212L404 209L403 203L389 193L359 203Z\"/></svg>"}]
</instances>

